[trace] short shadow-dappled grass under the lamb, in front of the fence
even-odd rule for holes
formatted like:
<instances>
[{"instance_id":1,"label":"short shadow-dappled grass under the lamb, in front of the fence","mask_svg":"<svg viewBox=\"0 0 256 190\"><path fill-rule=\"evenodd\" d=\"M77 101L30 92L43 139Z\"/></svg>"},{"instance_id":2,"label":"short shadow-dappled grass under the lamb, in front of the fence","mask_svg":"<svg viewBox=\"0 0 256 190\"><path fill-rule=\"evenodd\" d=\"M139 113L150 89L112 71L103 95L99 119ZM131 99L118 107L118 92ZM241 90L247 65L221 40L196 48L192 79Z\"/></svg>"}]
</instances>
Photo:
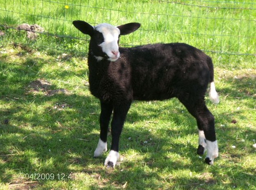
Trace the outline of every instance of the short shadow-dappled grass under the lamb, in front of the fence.
<instances>
[{"instance_id":1,"label":"short shadow-dappled grass under the lamb, in front of the fence","mask_svg":"<svg viewBox=\"0 0 256 190\"><path fill-rule=\"evenodd\" d=\"M255 69L215 68L221 102L215 106L206 97L219 143L213 166L196 154L195 119L171 99L132 104L120 140L120 165L107 169L107 153L93 158L100 106L88 89L87 60L67 58L27 47L0 48L0 189L256 189ZM36 79L68 93L31 92ZM109 135L108 148L110 142ZM71 172L73 179L58 179ZM26 180L19 173L53 173L55 179Z\"/></svg>"}]
</instances>

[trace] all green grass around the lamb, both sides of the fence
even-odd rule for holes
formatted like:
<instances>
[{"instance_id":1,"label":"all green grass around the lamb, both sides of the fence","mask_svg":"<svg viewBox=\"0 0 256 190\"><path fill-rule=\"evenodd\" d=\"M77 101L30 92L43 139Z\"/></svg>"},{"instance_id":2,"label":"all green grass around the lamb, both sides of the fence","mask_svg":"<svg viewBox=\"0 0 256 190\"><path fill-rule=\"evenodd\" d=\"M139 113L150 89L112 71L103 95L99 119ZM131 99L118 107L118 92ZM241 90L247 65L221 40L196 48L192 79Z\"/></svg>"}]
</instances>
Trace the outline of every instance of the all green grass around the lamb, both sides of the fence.
<instances>
[{"instance_id":1,"label":"all green grass around the lamb, both sides of the fence","mask_svg":"<svg viewBox=\"0 0 256 190\"><path fill-rule=\"evenodd\" d=\"M3 0L1 5L0 190L256 190L253 1ZM100 106L88 88L88 37L71 26L75 19L140 22L139 31L123 36L123 45L178 41L220 52L207 53L220 95L218 105L206 96L219 144L213 166L196 154L196 121L177 99L132 103L119 164L105 168L107 153L93 158ZM25 31L12 29L23 23L57 36L29 40ZM111 135L108 149L110 142Z\"/></svg>"}]
</instances>

